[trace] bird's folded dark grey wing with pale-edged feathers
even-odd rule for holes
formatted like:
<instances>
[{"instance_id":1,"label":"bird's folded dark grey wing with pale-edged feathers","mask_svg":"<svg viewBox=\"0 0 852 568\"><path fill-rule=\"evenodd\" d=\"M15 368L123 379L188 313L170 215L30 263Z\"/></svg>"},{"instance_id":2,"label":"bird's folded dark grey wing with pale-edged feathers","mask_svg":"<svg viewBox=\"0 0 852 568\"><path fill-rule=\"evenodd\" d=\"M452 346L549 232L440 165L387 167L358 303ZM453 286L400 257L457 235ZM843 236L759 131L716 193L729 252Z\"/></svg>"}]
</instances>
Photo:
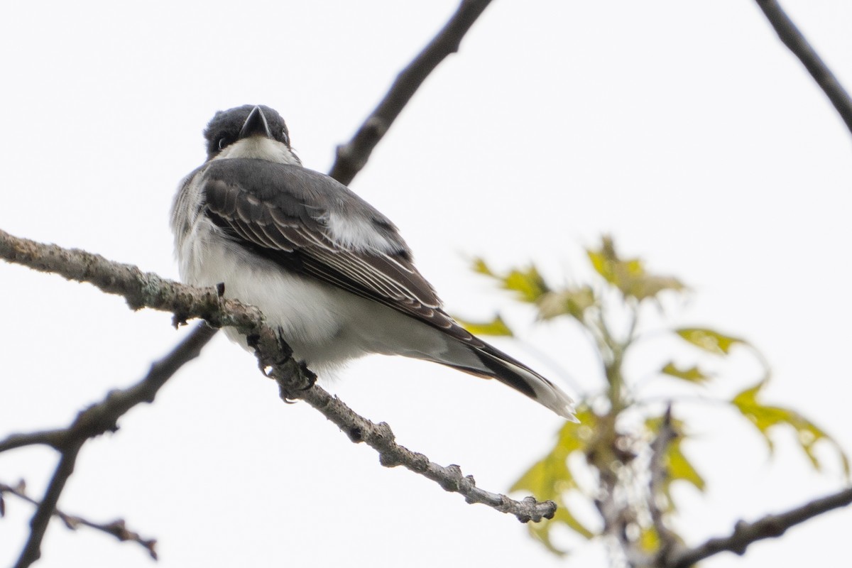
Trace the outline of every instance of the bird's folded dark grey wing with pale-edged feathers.
<instances>
[{"instance_id":1,"label":"bird's folded dark grey wing with pale-edged feathers","mask_svg":"<svg viewBox=\"0 0 852 568\"><path fill-rule=\"evenodd\" d=\"M249 158L214 160L202 175L204 214L246 249L481 347L441 309L393 223L348 187Z\"/></svg>"}]
</instances>

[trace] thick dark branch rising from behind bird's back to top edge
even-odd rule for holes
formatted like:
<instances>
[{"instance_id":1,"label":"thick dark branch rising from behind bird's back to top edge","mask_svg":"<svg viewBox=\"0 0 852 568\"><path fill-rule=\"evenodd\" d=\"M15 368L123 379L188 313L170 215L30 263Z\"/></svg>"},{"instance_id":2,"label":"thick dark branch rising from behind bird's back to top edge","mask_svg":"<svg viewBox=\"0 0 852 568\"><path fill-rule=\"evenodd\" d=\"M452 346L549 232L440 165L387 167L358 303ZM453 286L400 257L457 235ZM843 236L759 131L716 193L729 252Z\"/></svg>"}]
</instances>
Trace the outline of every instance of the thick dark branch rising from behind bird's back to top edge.
<instances>
[{"instance_id":1,"label":"thick dark branch rising from behind bird's back to top edge","mask_svg":"<svg viewBox=\"0 0 852 568\"><path fill-rule=\"evenodd\" d=\"M464 34L473 26L491 0L463 0L455 14L429 42L423 51L397 75L387 95L361 124L351 141L337 146L337 159L329 175L348 185L367 163L390 125L400 115L429 73L435 70L447 55L458 51Z\"/></svg>"}]
</instances>

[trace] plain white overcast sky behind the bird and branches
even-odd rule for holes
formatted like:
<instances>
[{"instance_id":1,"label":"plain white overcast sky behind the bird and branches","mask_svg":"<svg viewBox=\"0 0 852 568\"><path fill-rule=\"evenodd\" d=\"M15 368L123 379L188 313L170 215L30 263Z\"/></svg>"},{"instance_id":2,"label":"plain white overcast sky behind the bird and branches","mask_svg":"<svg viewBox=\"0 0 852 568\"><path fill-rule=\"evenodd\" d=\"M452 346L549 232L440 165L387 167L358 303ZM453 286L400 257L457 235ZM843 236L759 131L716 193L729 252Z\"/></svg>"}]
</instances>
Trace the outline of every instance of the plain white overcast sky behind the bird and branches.
<instances>
[{"instance_id":1,"label":"plain white overcast sky behind the bird and branches","mask_svg":"<svg viewBox=\"0 0 852 568\"><path fill-rule=\"evenodd\" d=\"M304 163L326 171L456 4L3 3L0 227L176 278L168 211L204 159L201 130L216 110L273 106ZM852 3L784 7L852 88ZM672 324L754 342L774 368L768 402L852 449L850 182L849 132L751 0L503 0L417 92L353 188L400 227L452 313L509 307L525 341L586 388L598 376L582 336L533 328L465 255L534 260L559 283L587 275L583 246L613 233L625 254L693 288L670 307ZM0 436L66 425L186 333L169 314L131 313L89 285L5 263L0 314ZM734 359L713 392L756 380L745 353ZM490 491L505 491L560 425L497 383L407 359L365 359L329 387ZM829 452L816 475L787 434L770 461L733 415L676 413L698 421L686 451L710 482L705 497L678 493L691 543L841 485ZM159 539L164 568L564 565L514 519L382 468L307 404L281 404L224 337L120 426L85 446L60 506L123 516ZM49 450L9 452L0 480L23 477L39 495L54 465ZM19 554L32 514L13 498L7 509L0 565ZM850 514L705 564L843 558ZM135 545L51 525L39 566L89 565L153 564ZM600 547L569 565L603 565Z\"/></svg>"}]
</instances>

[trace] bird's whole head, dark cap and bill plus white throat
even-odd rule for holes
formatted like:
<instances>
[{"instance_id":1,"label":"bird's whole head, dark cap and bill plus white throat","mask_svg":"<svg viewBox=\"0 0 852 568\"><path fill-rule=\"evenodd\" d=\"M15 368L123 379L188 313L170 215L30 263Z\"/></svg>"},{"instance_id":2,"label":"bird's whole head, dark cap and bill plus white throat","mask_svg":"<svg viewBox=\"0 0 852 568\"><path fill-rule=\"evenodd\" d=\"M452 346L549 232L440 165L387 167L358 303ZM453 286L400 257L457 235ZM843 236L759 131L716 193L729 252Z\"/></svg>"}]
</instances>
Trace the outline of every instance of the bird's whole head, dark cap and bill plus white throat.
<instances>
[{"instance_id":1,"label":"bird's whole head, dark cap and bill plus white throat","mask_svg":"<svg viewBox=\"0 0 852 568\"><path fill-rule=\"evenodd\" d=\"M284 118L263 105L244 105L216 116L204 129L207 160L255 158L279 164L301 165L290 146Z\"/></svg>"}]
</instances>

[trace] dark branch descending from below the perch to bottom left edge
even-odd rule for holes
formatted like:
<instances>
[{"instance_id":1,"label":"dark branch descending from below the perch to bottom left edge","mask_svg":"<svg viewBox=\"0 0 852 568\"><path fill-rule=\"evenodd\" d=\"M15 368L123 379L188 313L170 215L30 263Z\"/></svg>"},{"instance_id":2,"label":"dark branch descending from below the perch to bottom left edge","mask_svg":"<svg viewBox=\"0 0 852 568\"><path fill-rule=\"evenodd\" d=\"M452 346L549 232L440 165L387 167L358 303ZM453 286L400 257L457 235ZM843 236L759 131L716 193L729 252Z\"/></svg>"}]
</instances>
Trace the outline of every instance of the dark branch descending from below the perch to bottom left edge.
<instances>
[{"instance_id":1,"label":"dark branch descending from below the perch to bottom left edge","mask_svg":"<svg viewBox=\"0 0 852 568\"><path fill-rule=\"evenodd\" d=\"M6 234L0 232L0 237ZM61 434L60 439L55 440L54 447L61 452L60 462L50 479L42 501L30 520L30 536L15 563L15 568L26 568L41 556L44 533L47 531L50 517L55 514L62 490L65 489L68 478L74 472L74 465L83 444L102 433L117 430L118 418L124 416L124 413L136 404L153 402L159 388L175 374L176 370L181 368L181 365L198 357L201 348L215 334L216 330L209 325L199 324L168 355L152 364L145 378L132 387L110 392L100 403L81 411L72 425ZM33 443L43 443L40 441L42 438L33 437Z\"/></svg>"}]
</instances>

